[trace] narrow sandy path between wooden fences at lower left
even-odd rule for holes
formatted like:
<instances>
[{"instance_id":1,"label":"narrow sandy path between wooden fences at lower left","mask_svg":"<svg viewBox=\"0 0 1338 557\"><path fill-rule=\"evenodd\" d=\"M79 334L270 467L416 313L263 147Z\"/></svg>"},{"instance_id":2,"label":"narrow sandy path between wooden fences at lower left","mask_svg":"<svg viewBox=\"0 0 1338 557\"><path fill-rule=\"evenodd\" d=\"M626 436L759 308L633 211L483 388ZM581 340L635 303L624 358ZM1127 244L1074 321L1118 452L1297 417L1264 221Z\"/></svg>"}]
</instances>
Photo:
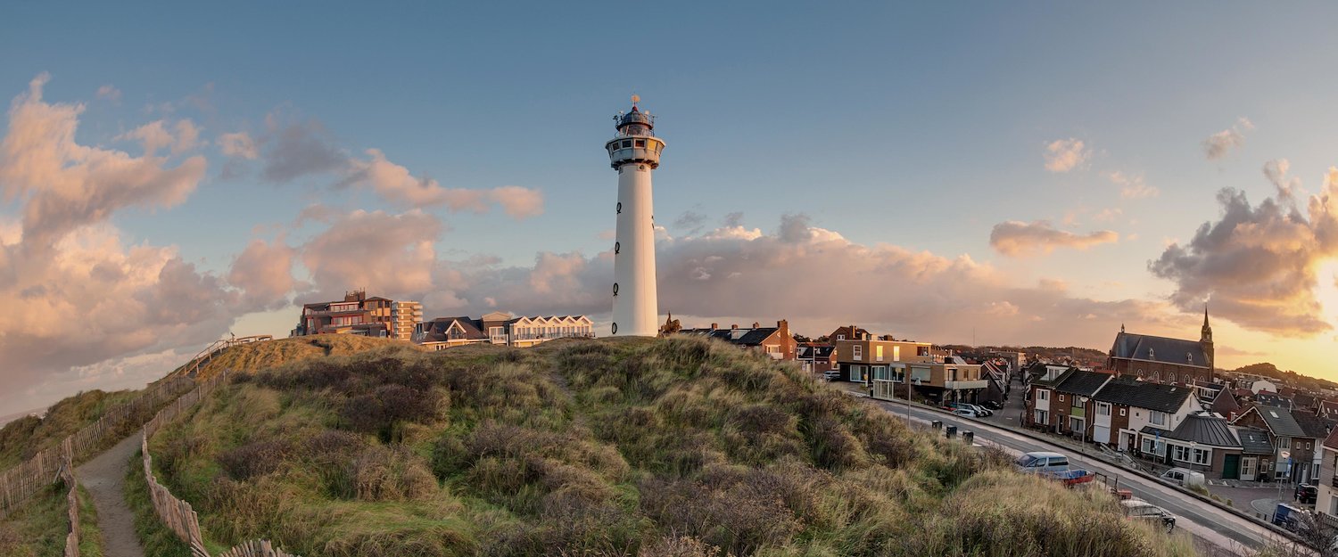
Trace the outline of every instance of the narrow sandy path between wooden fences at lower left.
<instances>
[{"instance_id":1,"label":"narrow sandy path between wooden fences at lower left","mask_svg":"<svg viewBox=\"0 0 1338 557\"><path fill-rule=\"evenodd\" d=\"M135 517L126 506L123 488L130 455L139 449L139 433L122 439L116 446L75 469L79 484L92 496L98 509L98 526L106 545L107 557L143 557L145 548L135 534Z\"/></svg>"}]
</instances>

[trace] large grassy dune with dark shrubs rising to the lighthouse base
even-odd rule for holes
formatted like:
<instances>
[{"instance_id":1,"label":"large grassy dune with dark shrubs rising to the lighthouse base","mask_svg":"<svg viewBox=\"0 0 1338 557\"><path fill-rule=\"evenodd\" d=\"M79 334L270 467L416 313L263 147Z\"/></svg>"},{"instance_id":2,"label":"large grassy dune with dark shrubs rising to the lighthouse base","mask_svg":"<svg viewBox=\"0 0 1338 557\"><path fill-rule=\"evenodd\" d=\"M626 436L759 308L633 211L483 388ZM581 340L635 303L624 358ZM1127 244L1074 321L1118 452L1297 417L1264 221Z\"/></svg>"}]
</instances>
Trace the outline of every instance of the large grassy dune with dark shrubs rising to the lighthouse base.
<instances>
[{"instance_id":1,"label":"large grassy dune with dark shrubs rising to the lighthouse base","mask_svg":"<svg viewBox=\"0 0 1338 557\"><path fill-rule=\"evenodd\" d=\"M290 361L151 449L210 545L308 557L1193 553L1108 496L690 338Z\"/></svg>"}]
</instances>

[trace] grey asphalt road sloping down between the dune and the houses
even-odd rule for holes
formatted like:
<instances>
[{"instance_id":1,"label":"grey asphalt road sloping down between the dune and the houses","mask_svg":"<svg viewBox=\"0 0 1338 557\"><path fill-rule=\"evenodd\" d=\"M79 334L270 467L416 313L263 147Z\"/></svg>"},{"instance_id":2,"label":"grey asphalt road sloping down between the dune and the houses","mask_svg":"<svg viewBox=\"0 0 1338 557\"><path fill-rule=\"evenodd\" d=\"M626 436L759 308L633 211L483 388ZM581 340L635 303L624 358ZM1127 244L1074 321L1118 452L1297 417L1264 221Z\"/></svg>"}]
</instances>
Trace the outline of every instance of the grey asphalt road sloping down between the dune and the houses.
<instances>
[{"instance_id":1,"label":"grey asphalt road sloping down between the dune and the houses","mask_svg":"<svg viewBox=\"0 0 1338 557\"><path fill-rule=\"evenodd\" d=\"M870 401L894 415L906 417L904 401L900 403L887 401ZM1054 450L1069 455L1069 462L1077 468L1100 472L1119 480L1121 489L1133 490L1133 496L1169 510L1176 516L1176 528L1183 528L1199 538L1216 545L1220 549L1242 553L1242 549L1259 549L1264 545L1290 544L1264 525L1238 517L1215 505L1199 501L1176 488L1136 476L1129 470L1111 465L1098 458L1088 458L1074 453L1072 449L1038 441L1014 431L995 427L986 422L971 418L961 418L923 407L910 409L913 423L927 425L930 421L942 421L943 425L955 425L958 434L963 430L974 431L975 442L982 445L997 445L1001 449L1021 454L1033 450Z\"/></svg>"}]
</instances>

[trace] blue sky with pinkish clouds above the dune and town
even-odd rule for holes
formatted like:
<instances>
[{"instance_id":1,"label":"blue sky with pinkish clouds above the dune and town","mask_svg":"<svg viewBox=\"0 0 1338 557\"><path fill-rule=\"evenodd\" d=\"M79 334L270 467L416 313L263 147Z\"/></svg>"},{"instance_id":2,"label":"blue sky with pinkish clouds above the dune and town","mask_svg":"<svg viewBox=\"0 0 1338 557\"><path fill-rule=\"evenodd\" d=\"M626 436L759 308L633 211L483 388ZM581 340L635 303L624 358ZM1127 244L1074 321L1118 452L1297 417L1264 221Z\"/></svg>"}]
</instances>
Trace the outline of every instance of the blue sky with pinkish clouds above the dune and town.
<instances>
[{"instance_id":1,"label":"blue sky with pinkish clouds above the dune and town","mask_svg":"<svg viewBox=\"0 0 1338 557\"><path fill-rule=\"evenodd\" d=\"M0 414L353 289L606 327L632 94L686 326L1107 350L1207 303L1219 367L1338 379L1330 4L484 4L0 5Z\"/></svg>"}]
</instances>

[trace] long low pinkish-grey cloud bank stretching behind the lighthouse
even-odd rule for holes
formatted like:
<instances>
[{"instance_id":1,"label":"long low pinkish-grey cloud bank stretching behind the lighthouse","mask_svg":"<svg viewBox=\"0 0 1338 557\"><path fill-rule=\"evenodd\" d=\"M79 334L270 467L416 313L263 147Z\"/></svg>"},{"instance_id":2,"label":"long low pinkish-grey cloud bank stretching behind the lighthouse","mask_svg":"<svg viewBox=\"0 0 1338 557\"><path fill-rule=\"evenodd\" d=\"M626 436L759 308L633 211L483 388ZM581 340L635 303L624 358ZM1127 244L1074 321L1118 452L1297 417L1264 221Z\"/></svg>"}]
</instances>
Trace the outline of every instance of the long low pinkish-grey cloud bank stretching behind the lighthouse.
<instances>
[{"instance_id":1,"label":"long low pinkish-grey cloud bank stretching behind the lighthouse","mask_svg":"<svg viewBox=\"0 0 1338 557\"><path fill-rule=\"evenodd\" d=\"M1160 302L1074 298L1062 282L1013 285L965 255L854 243L805 215L787 215L775 230L733 226L660 239L660 311L702 322L788 318L814 334L854 321L939 342L963 339L970 327L990 342L1082 345L1105 342L1121 319L1137 319L1148 331L1195 326L1192 317L1168 313ZM432 283L411 295L421 297L428 317L507 310L598 318L611 307L611 285L609 251L541 252L533 266L500 266L491 258L438 262Z\"/></svg>"}]
</instances>

